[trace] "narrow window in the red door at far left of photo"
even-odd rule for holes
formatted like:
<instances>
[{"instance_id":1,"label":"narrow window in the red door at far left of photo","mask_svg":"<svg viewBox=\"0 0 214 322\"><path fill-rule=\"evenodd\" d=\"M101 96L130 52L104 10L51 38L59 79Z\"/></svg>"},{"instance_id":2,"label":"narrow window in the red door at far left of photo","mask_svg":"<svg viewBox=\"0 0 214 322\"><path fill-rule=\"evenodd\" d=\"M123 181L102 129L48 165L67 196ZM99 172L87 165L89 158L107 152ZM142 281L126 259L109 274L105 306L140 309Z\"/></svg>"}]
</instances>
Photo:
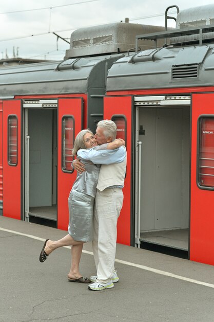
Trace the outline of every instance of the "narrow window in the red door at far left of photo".
<instances>
[{"instance_id":1,"label":"narrow window in the red door at far left of photo","mask_svg":"<svg viewBox=\"0 0 214 322\"><path fill-rule=\"evenodd\" d=\"M8 116L8 164L18 163L18 119L16 115Z\"/></svg>"}]
</instances>

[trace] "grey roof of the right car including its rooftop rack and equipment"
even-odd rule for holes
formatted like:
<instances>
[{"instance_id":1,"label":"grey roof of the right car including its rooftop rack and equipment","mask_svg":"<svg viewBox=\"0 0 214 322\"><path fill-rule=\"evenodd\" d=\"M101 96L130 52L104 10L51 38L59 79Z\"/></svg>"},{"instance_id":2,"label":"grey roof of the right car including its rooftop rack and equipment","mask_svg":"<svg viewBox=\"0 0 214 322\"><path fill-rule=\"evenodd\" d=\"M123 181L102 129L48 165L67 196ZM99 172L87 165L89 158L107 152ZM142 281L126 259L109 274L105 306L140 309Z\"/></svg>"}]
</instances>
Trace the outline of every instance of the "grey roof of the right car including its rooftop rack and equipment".
<instances>
[{"instance_id":1,"label":"grey roof of the right car including its rooftop rack and equipment","mask_svg":"<svg viewBox=\"0 0 214 322\"><path fill-rule=\"evenodd\" d=\"M190 19L204 21L205 17L207 24L181 25ZM136 45L134 54L114 62L107 76L107 91L214 85L214 5L184 10L178 18L178 29L137 35L137 41L170 41L141 51Z\"/></svg>"}]
</instances>

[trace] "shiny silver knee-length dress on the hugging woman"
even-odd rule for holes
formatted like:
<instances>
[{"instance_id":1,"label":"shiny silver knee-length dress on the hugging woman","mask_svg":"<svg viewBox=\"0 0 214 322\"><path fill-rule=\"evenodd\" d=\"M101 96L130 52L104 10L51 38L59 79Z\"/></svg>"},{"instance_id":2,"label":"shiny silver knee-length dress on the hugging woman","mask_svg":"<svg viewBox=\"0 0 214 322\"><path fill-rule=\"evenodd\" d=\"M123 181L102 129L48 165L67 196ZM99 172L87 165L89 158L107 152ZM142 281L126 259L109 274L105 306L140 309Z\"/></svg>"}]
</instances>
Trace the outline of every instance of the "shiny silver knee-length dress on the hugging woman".
<instances>
[{"instance_id":1,"label":"shiny silver knee-length dress on the hugging woman","mask_svg":"<svg viewBox=\"0 0 214 322\"><path fill-rule=\"evenodd\" d=\"M74 240L88 242L93 240L93 205L100 165L81 160L86 171L77 173L68 198L69 225L68 234Z\"/></svg>"}]
</instances>

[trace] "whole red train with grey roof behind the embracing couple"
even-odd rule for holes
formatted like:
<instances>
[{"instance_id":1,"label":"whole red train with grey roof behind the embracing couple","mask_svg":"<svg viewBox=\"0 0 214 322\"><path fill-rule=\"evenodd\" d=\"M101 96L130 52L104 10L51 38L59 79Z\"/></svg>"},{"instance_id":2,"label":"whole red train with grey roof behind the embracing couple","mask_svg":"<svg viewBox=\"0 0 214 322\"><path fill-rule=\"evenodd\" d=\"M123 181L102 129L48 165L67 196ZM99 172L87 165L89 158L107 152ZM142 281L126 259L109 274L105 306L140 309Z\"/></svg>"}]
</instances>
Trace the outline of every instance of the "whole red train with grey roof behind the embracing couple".
<instances>
[{"instance_id":1,"label":"whole red train with grey roof behind the embracing couple","mask_svg":"<svg viewBox=\"0 0 214 322\"><path fill-rule=\"evenodd\" d=\"M118 242L214 265L214 5L167 30L169 8L166 28L80 29L64 61L0 69L3 216L67 230L74 137L108 118L128 155Z\"/></svg>"}]
</instances>

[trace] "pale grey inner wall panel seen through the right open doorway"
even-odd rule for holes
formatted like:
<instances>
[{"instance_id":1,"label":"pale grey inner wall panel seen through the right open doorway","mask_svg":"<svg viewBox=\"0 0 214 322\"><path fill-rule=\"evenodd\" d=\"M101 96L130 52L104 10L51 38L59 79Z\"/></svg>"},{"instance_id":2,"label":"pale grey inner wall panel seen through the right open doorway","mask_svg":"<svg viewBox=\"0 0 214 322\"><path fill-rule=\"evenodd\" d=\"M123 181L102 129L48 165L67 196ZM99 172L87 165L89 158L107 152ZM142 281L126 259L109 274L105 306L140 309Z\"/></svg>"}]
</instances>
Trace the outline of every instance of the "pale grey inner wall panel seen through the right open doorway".
<instances>
[{"instance_id":1,"label":"pale grey inner wall panel seen through the right open doorway","mask_svg":"<svg viewBox=\"0 0 214 322\"><path fill-rule=\"evenodd\" d=\"M183 110L141 108L141 231L182 227ZM175 184L176 183L176 184Z\"/></svg>"}]
</instances>

